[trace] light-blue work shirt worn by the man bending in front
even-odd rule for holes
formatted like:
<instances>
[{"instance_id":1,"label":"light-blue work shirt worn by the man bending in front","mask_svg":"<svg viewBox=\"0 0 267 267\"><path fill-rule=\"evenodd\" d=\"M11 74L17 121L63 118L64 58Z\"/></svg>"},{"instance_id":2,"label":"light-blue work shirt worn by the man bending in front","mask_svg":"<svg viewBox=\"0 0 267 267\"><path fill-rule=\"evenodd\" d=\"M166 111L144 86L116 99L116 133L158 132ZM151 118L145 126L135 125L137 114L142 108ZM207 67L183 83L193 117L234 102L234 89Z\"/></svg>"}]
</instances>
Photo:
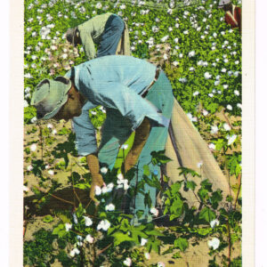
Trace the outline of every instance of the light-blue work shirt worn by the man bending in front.
<instances>
[{"instance_id":1,"label":"light-blue work shirt worn by the man bending in front","mask_svg":"<svg viewBox=\"0 0 267 267\"><path fill-rule=\"evenodd\" d=\"M169 118L164 117L160 110L142 97L155 73L156 66L148 61L123 55L104 56L74 67L75 86L87 99L82 114L72 118L79 155L86 156L98 150L88 110L99 105L107 109L109 117L113 110L115 120L117 113L121 115L127 122L129 134L141 125L144 117L150 118L157 125L168 126ZM66 77L70 77L70 74L71 71ZM116 127L117 124L114 124L114 128L109 126L109 132L118 132Z\"/></svg>"}]
</instances>

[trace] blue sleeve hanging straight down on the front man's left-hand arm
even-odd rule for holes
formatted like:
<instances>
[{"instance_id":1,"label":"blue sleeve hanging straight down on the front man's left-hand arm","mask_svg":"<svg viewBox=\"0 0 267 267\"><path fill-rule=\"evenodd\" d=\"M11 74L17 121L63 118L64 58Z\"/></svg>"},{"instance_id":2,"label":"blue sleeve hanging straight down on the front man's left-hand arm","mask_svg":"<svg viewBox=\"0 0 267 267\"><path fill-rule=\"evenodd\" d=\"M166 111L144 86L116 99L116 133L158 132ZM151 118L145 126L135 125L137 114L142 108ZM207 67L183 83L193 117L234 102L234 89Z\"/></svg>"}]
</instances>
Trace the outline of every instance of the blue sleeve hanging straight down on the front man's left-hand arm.
<instances>
[{"instance_id":1,"label":"blue sleeve hanging straight down on the front man's left-hand arm","mask_svg":"<svg viewBox=\"0 0 267 267\"><path fill-rule=\"evenodd\" d=\"M86 102L79 117L73 117L73 130L76 134L76 148L80 156L87 156L97 152L95 130L90 120L88 111L92 103Z\"/></svg>"}]
</instances>

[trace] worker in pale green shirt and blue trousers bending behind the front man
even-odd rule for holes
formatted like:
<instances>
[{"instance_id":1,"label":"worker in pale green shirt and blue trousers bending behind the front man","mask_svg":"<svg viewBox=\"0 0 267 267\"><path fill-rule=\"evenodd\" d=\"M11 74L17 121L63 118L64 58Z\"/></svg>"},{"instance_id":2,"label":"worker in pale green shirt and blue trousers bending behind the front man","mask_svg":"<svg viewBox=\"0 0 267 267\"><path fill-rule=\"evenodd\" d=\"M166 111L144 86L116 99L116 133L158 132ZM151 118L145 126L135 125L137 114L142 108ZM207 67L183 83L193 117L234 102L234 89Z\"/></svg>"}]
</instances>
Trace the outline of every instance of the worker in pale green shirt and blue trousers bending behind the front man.
<instances>
[{"instance_id":1,"label":"worker in pale green shirt and blue trousers bending behind the front man","mask_svg":"<svg viewBox=\"0 0 267 267\"><path fill-rule=\"evenodd\" d=\"M69 28L66 38L74 46L83 44L88 60L112 54L131 55L128 29L117 14L101 14ZM97 53L94 44L99 44Z\"/></svg>"}]
</instances>

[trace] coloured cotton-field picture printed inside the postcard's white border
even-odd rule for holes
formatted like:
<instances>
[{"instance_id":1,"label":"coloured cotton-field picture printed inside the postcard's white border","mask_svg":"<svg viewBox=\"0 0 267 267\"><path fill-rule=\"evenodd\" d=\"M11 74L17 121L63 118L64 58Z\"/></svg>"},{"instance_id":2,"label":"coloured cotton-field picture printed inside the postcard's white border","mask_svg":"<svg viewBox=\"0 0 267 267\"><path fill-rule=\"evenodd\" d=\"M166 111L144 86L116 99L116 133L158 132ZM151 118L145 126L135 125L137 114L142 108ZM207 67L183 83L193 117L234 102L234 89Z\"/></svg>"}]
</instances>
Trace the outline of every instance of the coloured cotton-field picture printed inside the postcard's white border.
<instances>
[{"instance_id":1,"label":"coloured cotton-field picture printed inside the postcard's white border","mask_svg":"<svg viewBox=\"0 0 267 267\"><path fill-rule=\"evenodd\" d=\"M243 4L24 0L23 266L242 266Z\"/></svg>"}]
</instances>

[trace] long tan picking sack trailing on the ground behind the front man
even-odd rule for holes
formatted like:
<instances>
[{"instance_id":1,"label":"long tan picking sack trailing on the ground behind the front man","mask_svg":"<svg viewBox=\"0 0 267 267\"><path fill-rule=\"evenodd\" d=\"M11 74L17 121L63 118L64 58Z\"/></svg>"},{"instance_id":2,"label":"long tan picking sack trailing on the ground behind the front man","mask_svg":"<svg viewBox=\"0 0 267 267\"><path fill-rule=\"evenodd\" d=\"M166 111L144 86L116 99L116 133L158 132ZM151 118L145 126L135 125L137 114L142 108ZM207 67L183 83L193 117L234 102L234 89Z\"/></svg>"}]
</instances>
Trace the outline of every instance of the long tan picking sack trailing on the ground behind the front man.
<instances>
[{"instance_id":1,"label":"long tan picking sack trailing on the ground behind the front man","mask_svg":"<svg viewBox=\"0 0 267 267\"><path fill-rule=\"evenodd\" d=\"M173 131L171 128L173 128ZM171 138L171 135L173 135L173 138ZM213 184L213 190L223 190L224 198L230 192L233 196L229 182L208 149L207 143L202 139L198 130L192 125L189 117L187 117L177 101L174 101L171 125L166 141L166 156L173 159L173 161L166 164L166 174L170 177L170 184L184 180L183 175L179 175L181 170L177 170L179 166L183 166L201 174L201 178L190 175L187 177L188 180L193 180L197 183L196 190L198 190L201 181L208 179ZM198 206L198 201L191 190L182 190L181 192L182 196L188 199L189 206Z\"/></svg>"}]
</instances>

